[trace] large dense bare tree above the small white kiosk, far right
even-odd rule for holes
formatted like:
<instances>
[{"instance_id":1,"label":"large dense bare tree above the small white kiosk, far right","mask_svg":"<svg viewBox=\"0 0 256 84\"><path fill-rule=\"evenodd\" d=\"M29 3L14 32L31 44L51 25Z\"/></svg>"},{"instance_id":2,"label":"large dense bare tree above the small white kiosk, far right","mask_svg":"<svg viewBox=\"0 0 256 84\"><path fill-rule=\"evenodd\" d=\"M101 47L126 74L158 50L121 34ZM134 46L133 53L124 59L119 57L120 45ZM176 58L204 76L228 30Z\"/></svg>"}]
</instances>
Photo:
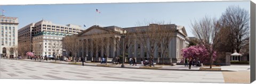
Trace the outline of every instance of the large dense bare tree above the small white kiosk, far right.
<instances>
[{"instance_id":1,"label":"large dense bare tree above the small white kiosk, far right","mask_svg":"<svg viewBox=\"0 0 256 84\"><path fill-rule=\"evenodd\" d=\"M219 22L219 27L226 34L226 42L221 42L222 46L230 48L227 52L239 52L246 45L246 39L249 39L250 35L249 12L239 6L229 6L226 12L222 13Z\"/></svg>"}]
</instances>

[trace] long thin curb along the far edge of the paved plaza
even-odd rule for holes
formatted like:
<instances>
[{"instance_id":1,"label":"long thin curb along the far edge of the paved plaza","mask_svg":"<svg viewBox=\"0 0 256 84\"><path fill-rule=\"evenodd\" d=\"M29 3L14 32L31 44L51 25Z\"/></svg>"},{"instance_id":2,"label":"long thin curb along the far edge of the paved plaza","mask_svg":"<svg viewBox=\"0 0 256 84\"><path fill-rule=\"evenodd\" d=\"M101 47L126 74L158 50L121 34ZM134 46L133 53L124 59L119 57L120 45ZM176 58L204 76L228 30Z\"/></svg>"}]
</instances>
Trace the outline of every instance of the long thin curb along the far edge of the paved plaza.
<instances>
[{"instance_id":1,"label":"long thin curb along the far edge of the paved plaza","mask_svg":"<svg viewBox=\"0 0 256 84\"><path fill-rule=\"evenodd\" d=\"M14 60L14 59L7 59L7 60ZM19 60L19 61L30 61L30 60ZM31 62L39 62L39 61L31 61ZM41 61L44 62L44 61ZM44 63L54 63L54 62L44 62ZM57 64L68 64L68 63L57 63ZM78 64L68 64L68 65L75 65L75 66L82 66ZM84 66L92 66L92 67L107 67L107 66L93 66L93 65L84 65ZM122 68L120 67L108 67L108 68ZM148 70L175 70L175 71L231 71L231 70L187 70L187 69L149 69L149 68L132 68L132 67L124 67L126 69L148 69Z\"/></svg>"}]
</instances>

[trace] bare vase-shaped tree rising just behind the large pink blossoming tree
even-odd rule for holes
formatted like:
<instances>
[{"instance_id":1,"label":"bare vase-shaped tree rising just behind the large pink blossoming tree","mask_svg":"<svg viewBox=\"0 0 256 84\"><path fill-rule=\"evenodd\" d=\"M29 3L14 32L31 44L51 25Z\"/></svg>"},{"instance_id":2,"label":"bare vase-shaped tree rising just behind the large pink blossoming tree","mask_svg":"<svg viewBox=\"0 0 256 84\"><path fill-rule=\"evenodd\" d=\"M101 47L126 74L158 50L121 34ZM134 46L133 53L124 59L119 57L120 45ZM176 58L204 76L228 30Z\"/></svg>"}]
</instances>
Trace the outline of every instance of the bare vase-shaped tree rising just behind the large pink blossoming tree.
<instances>
[{"instance_id":1,"label":"bare vase-shaped tree rising just behind the large pink blossoming tree","mask_svg":"<svg viewBox=\"0 0 256 84\"><path fill-rule=\"evenodd\" d=\"M215 18L210 18L205 16L199 21L194 21L191 23L193 27L193 34L199 39L199 42L205 46L206 50L210 53L210 68L212 68L213 63L213 53L217 50L217 43L221 38L219 28L217 27L219 23Z\"/></svg>"}]
</instances>

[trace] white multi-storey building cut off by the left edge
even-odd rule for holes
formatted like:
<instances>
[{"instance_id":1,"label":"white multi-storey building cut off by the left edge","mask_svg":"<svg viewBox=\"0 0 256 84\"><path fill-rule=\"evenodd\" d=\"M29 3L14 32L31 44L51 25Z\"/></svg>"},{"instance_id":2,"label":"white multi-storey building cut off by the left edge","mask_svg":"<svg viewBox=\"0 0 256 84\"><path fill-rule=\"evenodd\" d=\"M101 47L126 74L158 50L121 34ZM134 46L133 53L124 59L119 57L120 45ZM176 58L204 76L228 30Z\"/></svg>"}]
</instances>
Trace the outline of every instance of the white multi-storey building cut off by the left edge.
<instances>
[{"instance_id":1,"label":"white multi-storey building cut off by the left edge","mask_svg":"<svg viewBox=\"0 0 256 84\"><path fill-rule=\"evenodd\" d=\"M14 58L18 47L18 17L0 16L0 54L1 57Z\"/></svg>"}]
</instances>

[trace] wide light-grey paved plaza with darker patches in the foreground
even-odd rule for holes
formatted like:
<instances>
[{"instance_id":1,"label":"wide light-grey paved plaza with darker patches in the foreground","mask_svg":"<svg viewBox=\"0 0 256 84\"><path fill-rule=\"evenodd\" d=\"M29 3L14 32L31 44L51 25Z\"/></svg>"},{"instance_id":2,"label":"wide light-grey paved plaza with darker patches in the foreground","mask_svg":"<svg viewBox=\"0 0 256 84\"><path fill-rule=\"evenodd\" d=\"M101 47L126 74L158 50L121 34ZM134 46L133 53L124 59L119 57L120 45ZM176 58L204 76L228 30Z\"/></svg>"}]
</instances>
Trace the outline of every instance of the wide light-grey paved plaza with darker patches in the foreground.
<instances>
[{"instance_id":1,"label":"wide light-grey paved plaza with darker patches in the foreground","mask_svg":"<svg viewBox=\"0 0 256 84\"><path fill-rule=\"evenodd\" d=\"M109 68L8 59L1 59L0 63L0 78L4 79L14 78L225 83L225 79L223 78L221 71Z\"/></svg>"}]
</instances>

